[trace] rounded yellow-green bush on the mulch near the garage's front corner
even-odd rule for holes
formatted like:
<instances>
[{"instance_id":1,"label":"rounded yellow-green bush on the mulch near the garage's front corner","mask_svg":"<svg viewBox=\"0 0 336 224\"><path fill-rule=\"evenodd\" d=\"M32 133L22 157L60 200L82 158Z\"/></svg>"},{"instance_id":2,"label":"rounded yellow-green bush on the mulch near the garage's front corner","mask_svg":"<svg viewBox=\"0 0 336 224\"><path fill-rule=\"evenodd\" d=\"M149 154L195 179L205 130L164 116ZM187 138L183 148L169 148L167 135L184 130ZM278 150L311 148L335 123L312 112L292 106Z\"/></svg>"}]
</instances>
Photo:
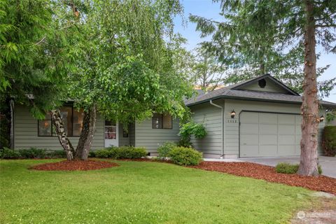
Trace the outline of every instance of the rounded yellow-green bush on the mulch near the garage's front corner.
<instances>
[{"instance_id":1,"label":"rounded yellow-green bush on the mulch near the garage's front corner","mask_svg":"<svg viewBox=\"0 0 336 224\"><path fill-rule=\"evenodd\" d=\"M199 165L202 161L202 153L186 147L173 148L169 152L169 157L178 165Z\"/></svg>"}]
</instances>

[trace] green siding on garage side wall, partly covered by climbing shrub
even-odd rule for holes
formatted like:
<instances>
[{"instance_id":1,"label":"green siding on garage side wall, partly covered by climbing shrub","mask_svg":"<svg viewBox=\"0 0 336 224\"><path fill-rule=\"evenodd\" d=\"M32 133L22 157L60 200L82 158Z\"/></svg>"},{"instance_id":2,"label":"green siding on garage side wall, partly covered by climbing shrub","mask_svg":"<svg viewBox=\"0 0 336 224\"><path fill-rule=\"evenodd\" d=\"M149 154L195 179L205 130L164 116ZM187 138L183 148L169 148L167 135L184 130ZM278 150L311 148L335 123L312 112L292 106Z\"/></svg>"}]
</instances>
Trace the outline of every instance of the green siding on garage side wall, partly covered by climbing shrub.
<instances>
[{"instance_id":1,"label":"green siding on garage side wall, partly covered by climbing shrub","mask_svg":"<svg viewBox=\"0 0 336 224\"><path fill-rule=\"evenodd\" d=\"M224 106L223 100L214 101L214 104ZM222 119L221 109L211 105L209 102L190 107L193 113L193 120L196 123L203 123L207 130L207 137L204 139L195 139L191 141L197 151L204 154L218 155L222 154Z\"/></svg>"}]
</instances>

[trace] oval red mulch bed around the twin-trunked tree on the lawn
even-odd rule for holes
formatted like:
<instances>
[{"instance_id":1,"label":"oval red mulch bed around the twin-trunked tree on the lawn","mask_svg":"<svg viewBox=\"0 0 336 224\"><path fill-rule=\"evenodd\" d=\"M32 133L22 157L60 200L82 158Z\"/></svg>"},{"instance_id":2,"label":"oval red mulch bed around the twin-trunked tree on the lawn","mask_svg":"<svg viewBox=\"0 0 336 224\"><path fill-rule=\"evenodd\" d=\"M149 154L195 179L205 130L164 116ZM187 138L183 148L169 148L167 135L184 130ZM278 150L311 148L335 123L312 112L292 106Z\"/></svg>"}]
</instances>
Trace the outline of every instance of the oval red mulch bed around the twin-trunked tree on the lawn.
<instances>
[{"instance_id":1,"label":"oval red mulch bed around the twin-trunked tree on the lawn","mask_svg":"<svg viewBox=\"0 0 336 224\"><path fill-rule=\"evenodd\" d=\"M36 170L92 170L92 169L104 169L110 167L118 167L119 165L114 162L106 162L100 160L63 160L61 162L44 163L31 167Z\"/></svg>"}]
</instances>

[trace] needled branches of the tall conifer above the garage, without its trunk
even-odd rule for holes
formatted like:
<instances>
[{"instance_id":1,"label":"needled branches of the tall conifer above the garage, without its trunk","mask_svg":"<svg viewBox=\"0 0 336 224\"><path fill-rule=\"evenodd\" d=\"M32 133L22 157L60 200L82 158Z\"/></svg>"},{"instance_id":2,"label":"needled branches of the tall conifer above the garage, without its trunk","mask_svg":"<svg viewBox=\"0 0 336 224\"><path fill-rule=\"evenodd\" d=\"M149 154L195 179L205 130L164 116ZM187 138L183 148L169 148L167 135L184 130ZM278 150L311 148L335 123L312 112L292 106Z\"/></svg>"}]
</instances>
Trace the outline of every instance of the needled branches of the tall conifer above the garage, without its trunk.
<instances>
[{"instance_id":1,"label":"needled branches of the tall conifer above the garage, without its trunk","mask_svg":"<svg viewBox=\"0 0 336 224\"><path fill-rule=\"evenodd\" d=\"M219 0L216 0L219 1ZM316 20L320 21L318 43L327 52L335 52L335 1L317 2ZM197 15L202 36L212 36L202 43L218 60L228 66L226 83L237 83L260 74L272 73L297 92L304 79L304 10L300 1L221 1L223 20L214 21ZM335 30L334 30L335 31ZM321 76L329 66L317 69ZM328 96L336 78L318 83L320 97Z\"/></svg>"}]
</instances>

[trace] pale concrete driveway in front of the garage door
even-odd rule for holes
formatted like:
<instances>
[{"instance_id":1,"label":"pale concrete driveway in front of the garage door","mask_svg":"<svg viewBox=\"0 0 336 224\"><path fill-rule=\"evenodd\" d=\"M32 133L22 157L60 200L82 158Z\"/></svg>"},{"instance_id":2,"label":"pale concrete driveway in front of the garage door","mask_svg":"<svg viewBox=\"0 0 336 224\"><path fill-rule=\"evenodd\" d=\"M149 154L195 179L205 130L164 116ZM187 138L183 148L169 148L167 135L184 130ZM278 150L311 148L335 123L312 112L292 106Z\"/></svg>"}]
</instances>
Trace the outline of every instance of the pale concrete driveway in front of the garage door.
<instances>
[{"instance_id":1,"label":"pale concrete driveway in front of the garage door","mask_svg":"<svg viewBox=\"0 0 336 224\"><path fill-rule=\"evenodd\" d=\"M290 164L300 163L300 157L272 157L272 158L239 158L238 160L246 162L255 162L262 165L268 165L275 167L279 162L288 162ZM320 156L318 157L318 162L322 167L322 174L325 176L330 176L336 178L336 158Z\"/></svg>"}]
</instances>

